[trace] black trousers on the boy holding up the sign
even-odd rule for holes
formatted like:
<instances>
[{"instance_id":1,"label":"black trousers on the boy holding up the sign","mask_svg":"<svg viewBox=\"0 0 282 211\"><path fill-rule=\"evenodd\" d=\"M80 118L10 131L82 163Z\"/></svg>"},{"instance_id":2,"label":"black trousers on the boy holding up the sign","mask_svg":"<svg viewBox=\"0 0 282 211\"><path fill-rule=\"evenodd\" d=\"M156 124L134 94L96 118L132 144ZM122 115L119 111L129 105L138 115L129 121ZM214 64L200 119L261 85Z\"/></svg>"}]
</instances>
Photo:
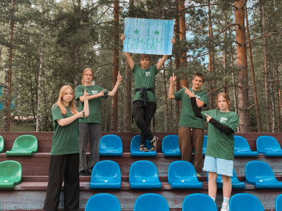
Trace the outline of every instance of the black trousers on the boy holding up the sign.
<instances>
[{"instance_id":1,"label":"black trousers on the boy holding up the sign","mask_svg":"<svg viewBox=\"0 0 282 211\"><path fill-rule=\"evenodd\" d=\"M133 117L135 118L137 127L139 127L141 131L140 144L145 144L147 139L152 140L154 138L149 126L155 111L156 104L153 102L147 102L147 106L144 106L143 101L133 102Z\"/></svg>"}]
</instances>

